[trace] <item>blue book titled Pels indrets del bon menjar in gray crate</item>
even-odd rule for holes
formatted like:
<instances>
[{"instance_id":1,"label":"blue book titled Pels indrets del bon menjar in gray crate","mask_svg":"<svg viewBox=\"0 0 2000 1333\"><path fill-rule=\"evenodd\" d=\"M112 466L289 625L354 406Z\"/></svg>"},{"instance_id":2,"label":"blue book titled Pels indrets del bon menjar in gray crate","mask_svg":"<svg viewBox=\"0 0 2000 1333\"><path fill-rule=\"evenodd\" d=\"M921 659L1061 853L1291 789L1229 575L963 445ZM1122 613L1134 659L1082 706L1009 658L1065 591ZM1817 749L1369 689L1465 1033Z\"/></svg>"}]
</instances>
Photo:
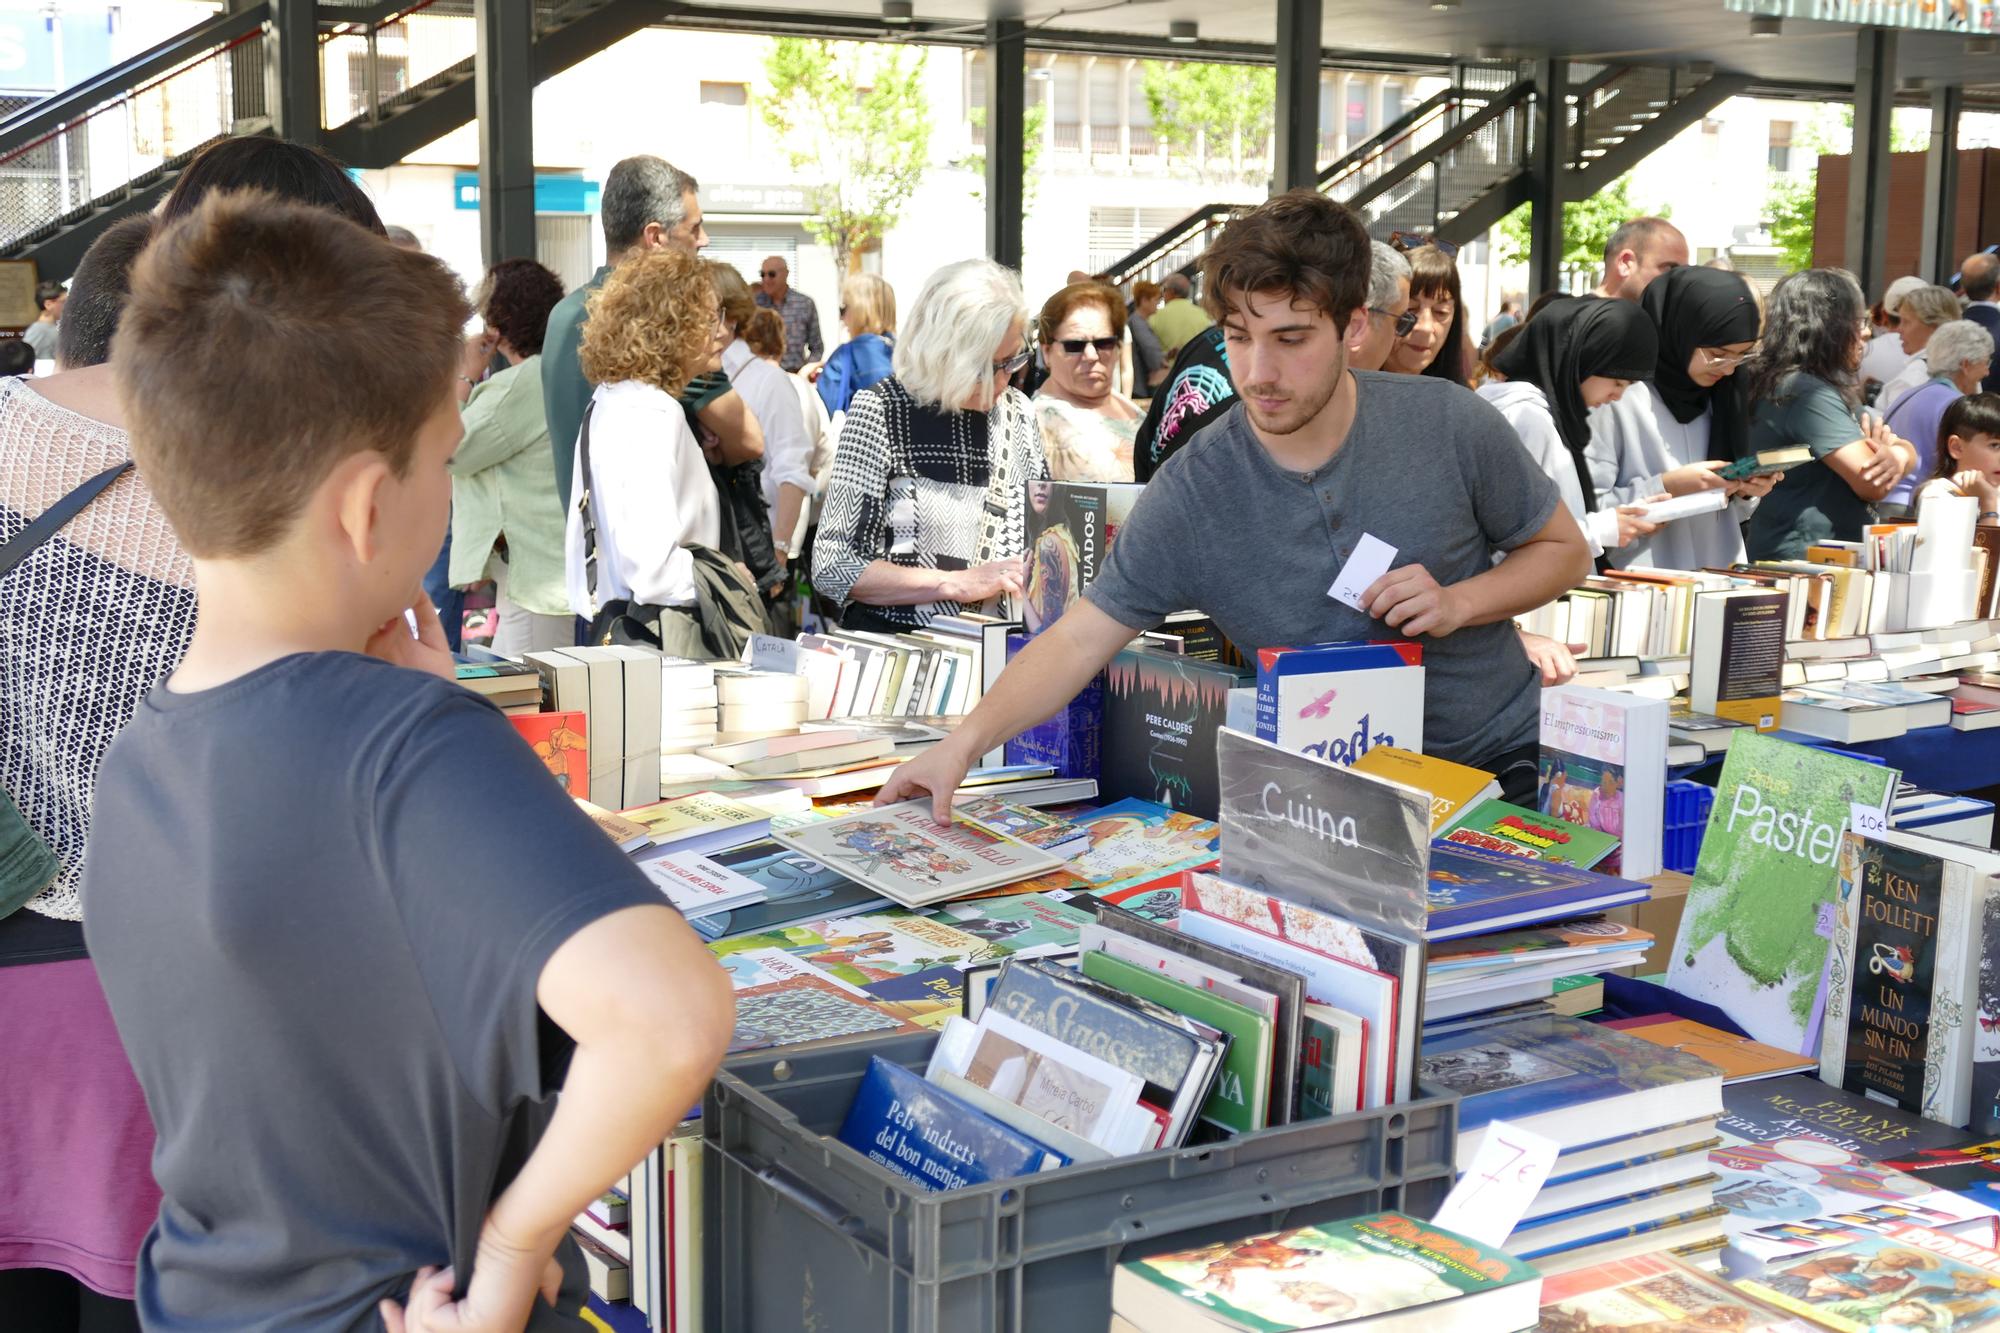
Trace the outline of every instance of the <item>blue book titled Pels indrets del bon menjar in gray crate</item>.
<instances>
[{"instance_id":1,"label":"blue book titled Pels indrets del bon menjar in gray crate","mask_svg":"<svg viewBox=\"0 0 2000 1333\"><path fill-rule=\"evenodd\" d=\"M880 1055L868 1057L840 1141L924 1189L964 1189L1070 1159Z\"/></svg>"}]
</instances>

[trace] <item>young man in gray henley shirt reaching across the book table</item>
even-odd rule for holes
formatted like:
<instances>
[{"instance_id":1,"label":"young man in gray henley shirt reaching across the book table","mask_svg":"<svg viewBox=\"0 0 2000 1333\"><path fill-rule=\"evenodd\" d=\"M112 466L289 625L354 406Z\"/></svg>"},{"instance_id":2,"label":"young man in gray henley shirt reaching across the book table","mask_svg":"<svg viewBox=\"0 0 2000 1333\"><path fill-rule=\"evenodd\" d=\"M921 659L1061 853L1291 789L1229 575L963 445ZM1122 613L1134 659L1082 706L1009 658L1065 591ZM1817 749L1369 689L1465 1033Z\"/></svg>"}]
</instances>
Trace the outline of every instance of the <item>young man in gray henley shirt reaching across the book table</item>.
<instances>
[{"instance_id":1,"label":"young man in gray henley shirt reaching across the book table","mask_svg":"<svg viewBox=\"0 0 2000 1333\"><path fill-rule=\"evenodd\" d=\"M1052 717L1138 632L1188 608L1244 652L1422 640L1424 751L1498 775L1510 801L1534 791L1542 675L1512 616L1590 574L1590 548L1482 398L1348 368L1368 264L1354 212L1312 190L1230 222L1202 276L1240 402L1160 466L1082 600L878 803L928 793L946 819L978 755ZM1364 534L1396 556L1362 610L1330 588Z\"/></svg>"}]
</instances>

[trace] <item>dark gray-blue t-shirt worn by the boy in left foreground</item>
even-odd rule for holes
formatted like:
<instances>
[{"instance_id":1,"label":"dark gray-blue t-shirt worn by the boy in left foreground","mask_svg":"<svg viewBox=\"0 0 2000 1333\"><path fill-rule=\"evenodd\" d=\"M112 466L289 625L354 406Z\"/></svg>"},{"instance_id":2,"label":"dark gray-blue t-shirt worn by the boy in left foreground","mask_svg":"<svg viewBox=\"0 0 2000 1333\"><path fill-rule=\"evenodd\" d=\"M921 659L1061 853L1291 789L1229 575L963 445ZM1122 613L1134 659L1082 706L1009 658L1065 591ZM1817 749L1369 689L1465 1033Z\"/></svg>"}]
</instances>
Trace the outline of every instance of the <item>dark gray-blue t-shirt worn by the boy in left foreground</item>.
<instances>
[{"instance_id":1,"label":"dark gray-blue t-shirt worn by the boy in left foreground","mask_svg":"<svg viewBox=\"0 0 2000 1333\"><path fill-rule=\"evenodd\" d=\"M660 893L486 701L352 652L156 689L104 759L84 935L158 1129L148 1333L380 1327L460 1291L570 1039L550 955ZM584 1275L536 1333L576 1331Z\"/></svg>"}]
</instances>

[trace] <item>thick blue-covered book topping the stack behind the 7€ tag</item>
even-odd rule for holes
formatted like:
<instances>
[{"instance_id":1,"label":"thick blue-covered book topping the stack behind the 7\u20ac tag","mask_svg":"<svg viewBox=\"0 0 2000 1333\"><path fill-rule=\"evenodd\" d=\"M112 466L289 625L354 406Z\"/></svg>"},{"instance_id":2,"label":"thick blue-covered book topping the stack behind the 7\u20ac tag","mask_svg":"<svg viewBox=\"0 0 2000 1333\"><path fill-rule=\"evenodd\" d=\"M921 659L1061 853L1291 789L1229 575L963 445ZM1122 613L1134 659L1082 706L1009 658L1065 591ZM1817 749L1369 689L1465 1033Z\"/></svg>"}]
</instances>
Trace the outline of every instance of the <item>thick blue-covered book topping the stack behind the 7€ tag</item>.
<instances>
[{"instance_id":1,"label":"thick blue-covered book topping the stack behind the 7\u20ac tag","mask_svg":"<svg viewBox=\"0 0 2000 1333\"><path fill-rule=\"evenodd\" d=\"M1562 1015L1426 1039L1418 1083L1460 1097L1460 1169L1492 1121L1570 1151L1606 1125L1642 1135L1722 1115L1722 1071L1708 1061Z\"/></svg>"}]
</instances>

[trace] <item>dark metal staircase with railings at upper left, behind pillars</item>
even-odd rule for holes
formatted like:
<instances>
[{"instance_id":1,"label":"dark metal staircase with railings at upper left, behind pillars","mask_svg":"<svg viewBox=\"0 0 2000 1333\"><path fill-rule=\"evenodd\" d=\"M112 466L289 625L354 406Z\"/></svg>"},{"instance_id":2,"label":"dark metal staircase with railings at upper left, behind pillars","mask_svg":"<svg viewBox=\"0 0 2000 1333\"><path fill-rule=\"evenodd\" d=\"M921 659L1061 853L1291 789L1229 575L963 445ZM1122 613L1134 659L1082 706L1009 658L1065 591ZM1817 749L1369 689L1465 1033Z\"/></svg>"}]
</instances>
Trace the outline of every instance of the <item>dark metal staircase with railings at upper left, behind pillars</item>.
<instances>
[{"instance_id":1,"label":"dark metal staircase with railings at upper left, behind pillars","mask_svg":"<svg viewBox=\"0 0 2000 1333\"><path fill-rule=\"evenodd\" d=\"M536 82L666 8L532 4ZM158 204L202 148L270 134L268 44L270 4L248 4L0 120L0 258L60 278L106 226ZM318 46L320 142L348 166L392 166L476 116L472 0L320 0Z\"/></svg>"}]
</instances>

